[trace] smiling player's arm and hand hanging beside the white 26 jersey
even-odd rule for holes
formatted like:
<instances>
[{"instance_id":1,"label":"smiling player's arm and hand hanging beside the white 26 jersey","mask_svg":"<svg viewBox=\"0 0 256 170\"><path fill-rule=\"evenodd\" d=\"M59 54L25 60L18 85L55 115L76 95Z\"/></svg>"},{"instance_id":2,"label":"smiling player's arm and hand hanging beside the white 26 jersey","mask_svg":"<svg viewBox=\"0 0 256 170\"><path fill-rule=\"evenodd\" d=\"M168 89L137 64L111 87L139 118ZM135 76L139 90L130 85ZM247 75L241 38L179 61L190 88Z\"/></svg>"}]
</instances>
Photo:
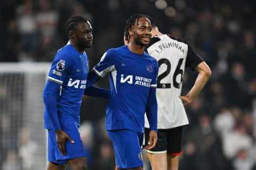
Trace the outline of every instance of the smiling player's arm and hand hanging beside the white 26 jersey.
<instances>
[{"instance_id":1,"label":"smiling player's arm and hand hanging beside the white 26 jersey","mask_svg":"<svg viewBox=\"0 0 256 170\"><path fill-rule=\"evenodd\" d=\"M157 142L157 100L156 100L156 86L157 86L158 66L155 69L155 76L153 83L150 85L149 96L146 106L146 115L149 122L149 140L146 149L152 149L156 146Z\"/></svg>"}]
</instances>

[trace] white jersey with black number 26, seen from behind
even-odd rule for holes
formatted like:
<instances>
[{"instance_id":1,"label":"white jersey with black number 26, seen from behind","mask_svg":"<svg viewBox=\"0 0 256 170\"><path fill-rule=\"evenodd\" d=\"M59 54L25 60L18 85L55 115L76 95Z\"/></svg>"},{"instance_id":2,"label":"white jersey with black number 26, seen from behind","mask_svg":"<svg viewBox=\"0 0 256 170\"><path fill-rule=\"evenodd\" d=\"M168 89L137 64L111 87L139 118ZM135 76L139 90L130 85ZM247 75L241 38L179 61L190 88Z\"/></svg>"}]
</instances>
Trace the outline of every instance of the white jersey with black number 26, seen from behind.
<instances>
[{"instance_id":1,"label":"white jersey with black number 26, seen from behind","mask_svg":"<svg viewBox=\"0 0 256 170\"><path fill-rule=\"evenodd\" d=\"M159 66L156 90L158 129L187 125L188 117L179 98L182 78L185 66L195 67L202 62L202 58L180 39L162 35L153 37L151 41L153 44L147 48L147 51L149 55L156 58ZM146 114L145 127L149 128Z\"/></svg>"}]
</instances>

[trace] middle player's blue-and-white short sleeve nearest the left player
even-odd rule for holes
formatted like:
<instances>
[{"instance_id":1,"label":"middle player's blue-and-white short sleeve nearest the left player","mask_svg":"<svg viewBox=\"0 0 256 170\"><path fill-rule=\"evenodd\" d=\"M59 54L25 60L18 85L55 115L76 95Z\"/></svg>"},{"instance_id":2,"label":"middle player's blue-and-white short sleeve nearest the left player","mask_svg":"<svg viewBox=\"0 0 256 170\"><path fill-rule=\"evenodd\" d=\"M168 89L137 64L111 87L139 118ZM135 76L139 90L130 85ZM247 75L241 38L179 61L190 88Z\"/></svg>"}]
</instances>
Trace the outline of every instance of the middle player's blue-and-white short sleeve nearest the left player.
<instances>
[{"instance_id":1,"label":"middle player's blue-and-white short sleeve nearest the left player","mask_svg":"<svg viewBox=\"0 0 256 170\"><path fill-rule=\"evenodd\" d=\"M101 57L100 62L94 66L93 71L99 77L105 77L105 75L114 70L115 65L113 63L113 49L108 50Z\"/></svg>"}]
</instances>

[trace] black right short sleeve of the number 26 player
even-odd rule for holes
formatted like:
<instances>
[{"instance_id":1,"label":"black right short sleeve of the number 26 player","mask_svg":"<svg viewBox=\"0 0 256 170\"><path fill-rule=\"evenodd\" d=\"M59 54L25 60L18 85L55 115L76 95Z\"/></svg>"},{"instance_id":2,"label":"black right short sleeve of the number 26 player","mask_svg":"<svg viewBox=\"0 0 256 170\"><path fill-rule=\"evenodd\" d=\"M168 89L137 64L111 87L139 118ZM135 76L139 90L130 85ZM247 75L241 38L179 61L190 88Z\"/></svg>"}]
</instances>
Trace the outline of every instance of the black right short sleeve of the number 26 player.
<instances>
[{"instance_id":1,"label":"black right short sleeve of the number 26 player","mask_svg":"<svg viewBox=\"0 0 256 170\"><path fill-rule=\"evenodd\" d=\"M194 70L195 67L201 62L203 62L203 59L201 58L201 56L199 56L196 52L194 52L193 48L191 48L188 45L186 67L190 67L192 70Z\"/></svg>"}]
</instances>

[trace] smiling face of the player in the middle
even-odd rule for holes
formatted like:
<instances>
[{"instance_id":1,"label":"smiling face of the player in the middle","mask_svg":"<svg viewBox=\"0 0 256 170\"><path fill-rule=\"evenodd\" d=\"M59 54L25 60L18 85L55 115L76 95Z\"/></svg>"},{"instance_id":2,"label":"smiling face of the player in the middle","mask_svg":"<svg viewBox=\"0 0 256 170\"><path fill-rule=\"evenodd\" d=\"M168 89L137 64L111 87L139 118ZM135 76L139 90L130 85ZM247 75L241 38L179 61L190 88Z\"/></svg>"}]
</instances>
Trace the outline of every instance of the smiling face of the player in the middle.
<instances>
[{"instance_id":1,"label":"smiling face of the player in the middle","mask_svg":"<svg viewBox=\"0 0 256 170\"><path fill-rule=\"evenodd\" d=\"M132 29L129 30L131 41L140 46L148 45L152 36L151 30L152 27L149 19L146 17L139 18L135 21Z\"/></svg>"}]
</instances>

